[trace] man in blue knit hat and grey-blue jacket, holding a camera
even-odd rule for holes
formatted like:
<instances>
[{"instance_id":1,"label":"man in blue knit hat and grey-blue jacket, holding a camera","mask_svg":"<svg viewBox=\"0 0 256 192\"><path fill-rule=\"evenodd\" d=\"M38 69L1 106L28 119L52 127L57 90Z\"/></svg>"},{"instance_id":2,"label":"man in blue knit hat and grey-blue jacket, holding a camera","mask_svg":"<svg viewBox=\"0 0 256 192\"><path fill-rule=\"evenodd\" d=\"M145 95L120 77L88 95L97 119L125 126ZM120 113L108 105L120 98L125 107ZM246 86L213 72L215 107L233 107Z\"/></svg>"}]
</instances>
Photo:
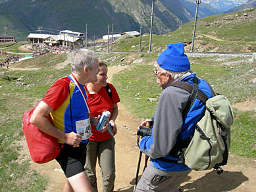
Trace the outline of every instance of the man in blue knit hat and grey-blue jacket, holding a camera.
<instances>
[{"instance_id":1,"label":"man in blue knit hat and grey-blue jacket, holding a camera","mask_svg":"<svg viewBox=\"0 0 256 192\"><path fill-rule=\"evenodd\" d=\"M190 61L184 54L184 43L168 44L167 49L157 58L154 72L157 84L163 91L155 109L151 136L143 137L140 141L141 151L150 156L151 160L136 186L136 191L177 192L191 169L180 163L182 159L176 146L193 135L195 124L201 118L205 105L195 99L185 114L184 108L191 94L173 86L178 81L194 84L196 74L190 70ZM207 97L212 97L207 82L199 78L197 81L199 89ZM141 126L145 125L146 122L141 123Z\"/></svg>"}]
</instances>

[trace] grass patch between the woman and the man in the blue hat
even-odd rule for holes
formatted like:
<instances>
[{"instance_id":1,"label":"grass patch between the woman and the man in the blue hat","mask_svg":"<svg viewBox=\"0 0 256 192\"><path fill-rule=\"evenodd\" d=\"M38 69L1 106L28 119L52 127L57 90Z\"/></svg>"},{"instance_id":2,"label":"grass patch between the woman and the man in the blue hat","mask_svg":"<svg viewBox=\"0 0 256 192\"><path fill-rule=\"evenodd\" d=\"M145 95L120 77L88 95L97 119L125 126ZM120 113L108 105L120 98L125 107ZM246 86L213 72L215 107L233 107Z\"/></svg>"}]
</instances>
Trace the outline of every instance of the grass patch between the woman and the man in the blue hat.
<instances>
[{"instance_id":1,"label":"grass patch between the woman and the man in the blue hat","mask_svg":"<svg viewBox=\"0 0 256 192\"><path fill-rule=\"evenodd\" d=\"M136 65L113 78L122 103L139 118L153 117L156 102L151 103L147 98L158 99L161 93L155 82L151 93L153 78L153 67L147 65Z\"/></svg>"}]
</instances>

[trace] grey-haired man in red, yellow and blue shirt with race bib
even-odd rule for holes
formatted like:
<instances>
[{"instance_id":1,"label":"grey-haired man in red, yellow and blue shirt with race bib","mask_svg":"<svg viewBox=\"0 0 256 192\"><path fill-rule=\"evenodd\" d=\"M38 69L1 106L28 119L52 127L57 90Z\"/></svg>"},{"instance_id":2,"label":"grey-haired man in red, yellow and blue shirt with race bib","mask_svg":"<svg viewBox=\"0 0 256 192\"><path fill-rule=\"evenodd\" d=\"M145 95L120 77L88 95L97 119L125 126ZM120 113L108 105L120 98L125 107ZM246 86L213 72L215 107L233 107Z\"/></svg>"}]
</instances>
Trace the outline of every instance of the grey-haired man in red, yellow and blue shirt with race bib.
<instances>
[{"instance_id":1,"label":"grey-haired man in red, yellow and blue shirt with race bib","mask_svg":"<svg viewBox=\"0 0 256 192\"><path fill-rule=\"evenodd\" d=\"M91 191L84 172L86 144L91 136L91 124L96 125L99 116L90 116L84 85L96 82L98 71L99 60L93 51L77 51L70 76L51 85L30 118L41 131L59 139L61 152L56 160L67 178L64 191Z\"/></svg>"}]
</instances>

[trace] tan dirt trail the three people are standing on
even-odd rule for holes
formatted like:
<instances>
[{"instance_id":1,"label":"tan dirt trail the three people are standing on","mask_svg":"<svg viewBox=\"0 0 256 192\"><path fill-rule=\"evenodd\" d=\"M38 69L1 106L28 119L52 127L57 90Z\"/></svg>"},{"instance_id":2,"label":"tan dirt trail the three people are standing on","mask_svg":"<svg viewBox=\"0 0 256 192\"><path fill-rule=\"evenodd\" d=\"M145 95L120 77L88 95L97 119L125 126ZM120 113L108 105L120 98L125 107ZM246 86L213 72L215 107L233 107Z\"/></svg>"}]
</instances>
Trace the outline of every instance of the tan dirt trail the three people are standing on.
<instances>
[{"instance_id":1,"label":"tan dirt trail the three people are standing on","mask_svg":"<svg viewBox=\"0 0 256 192\"><path fill-rule=\"evenodd\" d=\"M109 82L113 74L120 72L125 66L109 67ZM116 181L115 191L132 192L138 166L139 149L136 146L136 127L141 120L126 111L122 101L118 104L119 114L116 119L118 133L116 139ZM23 154L29 156L26 141L22 141ZM145 156L141 158L140 176L145 164ZM31 161L31 168L37 170L43 176L49 178L46 192L61 192L64 185L64 174L59 164L53 160L46 164L36 164ZM186 181L182 183L184 191L255 191L256 186L256 160L230 155L228 165L223 166L224 173L217 175L210 170L192 171ZM101 173L97 166L97 180L99 191L101 191Z\"/></svg>"}]
</instances>

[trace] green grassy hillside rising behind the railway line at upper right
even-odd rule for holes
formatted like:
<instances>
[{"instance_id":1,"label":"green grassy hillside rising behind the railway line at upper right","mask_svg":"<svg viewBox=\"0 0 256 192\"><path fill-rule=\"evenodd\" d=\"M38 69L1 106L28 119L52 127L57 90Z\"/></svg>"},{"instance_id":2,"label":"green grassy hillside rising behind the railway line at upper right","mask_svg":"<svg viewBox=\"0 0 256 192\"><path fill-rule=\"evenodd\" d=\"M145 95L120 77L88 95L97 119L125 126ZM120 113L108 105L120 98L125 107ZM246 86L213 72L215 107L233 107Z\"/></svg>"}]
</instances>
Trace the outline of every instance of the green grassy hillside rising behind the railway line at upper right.
<instances>
[{"instance_id":1,"label":"green grassy hillside rising behind the railway line at upper right","mask_svg":"<svg viewBox=\"0 0 256 192\"><path fill-rule=\"evenodd\" d=\"M236 16L237 14L237 16ZM243 14L247 14L244 16ZM243 18L242 18L243 17ZM153 35L152 51L163 51L166 44L174 42L192 42L194 22L189 22L181 26L178 30L166 34L165 36ZM256 9L247 11L232 12L208 16L197 20L195 34L195 49L201 50L199 45L205 47L203 51L208 52L218 47L215 52L245 52L250 49L256 51ZM202 36L215 36L222 41L210 39ZM138 51L140 37L125 39L116 43L115 51ZM199 45L196 45L199 43ZM207 45L207 46L205 46ZM141 37L141 51L149 50L149 35ZM188 49L190 51L190 49Z\"/></svg>"}]
</instances>

